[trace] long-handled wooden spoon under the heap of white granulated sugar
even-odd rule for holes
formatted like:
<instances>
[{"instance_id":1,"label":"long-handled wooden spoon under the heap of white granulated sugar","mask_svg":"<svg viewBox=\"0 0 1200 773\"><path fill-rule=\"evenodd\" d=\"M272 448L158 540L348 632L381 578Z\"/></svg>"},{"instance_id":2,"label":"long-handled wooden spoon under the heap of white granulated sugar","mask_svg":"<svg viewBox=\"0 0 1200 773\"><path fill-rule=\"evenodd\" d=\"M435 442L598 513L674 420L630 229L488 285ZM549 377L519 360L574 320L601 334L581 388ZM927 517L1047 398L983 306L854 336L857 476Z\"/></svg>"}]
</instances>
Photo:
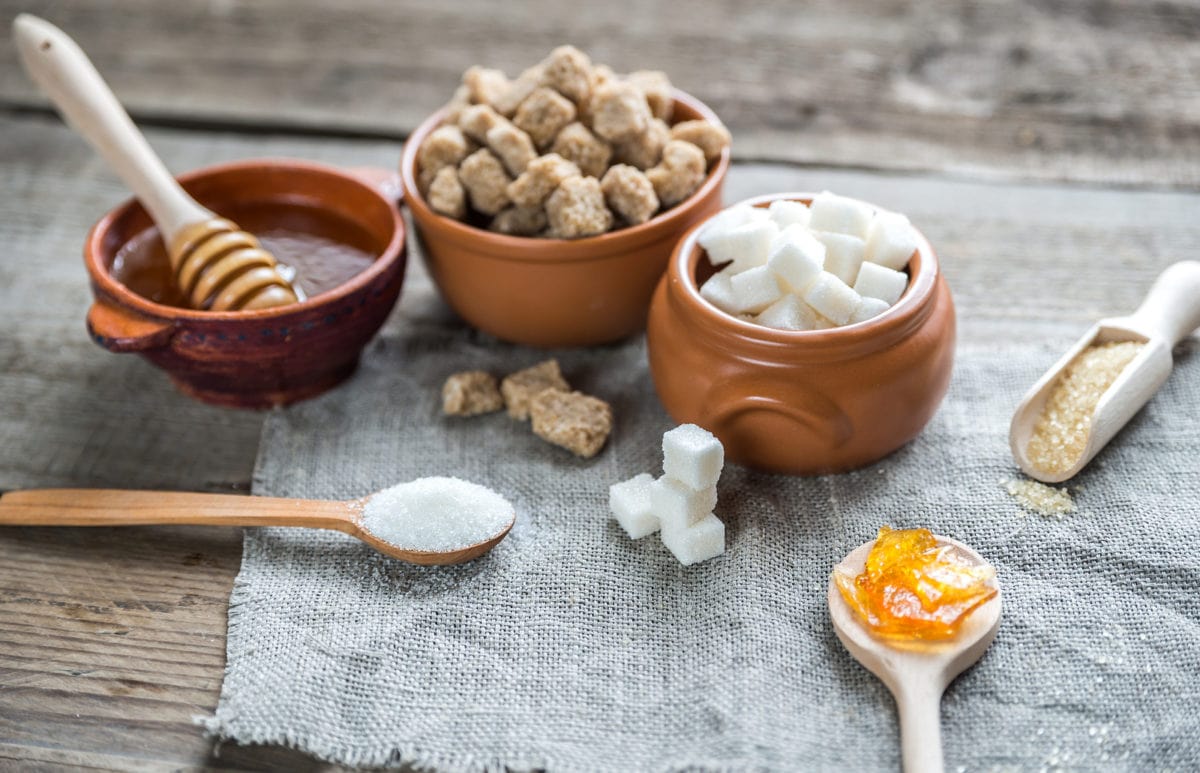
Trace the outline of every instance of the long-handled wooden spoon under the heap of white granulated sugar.
<instances>
[{"instance_id":1,"label":"long-handled wooden spoon under the heap of white granulated sugar","mask_svg":"<svg viewBox=\"0 0 1200 773\"><path fill-rule=\"evenodd\" d=\"M325 502L222 493L31 489L0 497L0 526L302 526L356 537L385 556L413 564L457 564L496 547L516 521L514 513L499 533L458 550L406 550L362 526L362 510L370 499L366 496Z\"/></svg>"}]
</instances>

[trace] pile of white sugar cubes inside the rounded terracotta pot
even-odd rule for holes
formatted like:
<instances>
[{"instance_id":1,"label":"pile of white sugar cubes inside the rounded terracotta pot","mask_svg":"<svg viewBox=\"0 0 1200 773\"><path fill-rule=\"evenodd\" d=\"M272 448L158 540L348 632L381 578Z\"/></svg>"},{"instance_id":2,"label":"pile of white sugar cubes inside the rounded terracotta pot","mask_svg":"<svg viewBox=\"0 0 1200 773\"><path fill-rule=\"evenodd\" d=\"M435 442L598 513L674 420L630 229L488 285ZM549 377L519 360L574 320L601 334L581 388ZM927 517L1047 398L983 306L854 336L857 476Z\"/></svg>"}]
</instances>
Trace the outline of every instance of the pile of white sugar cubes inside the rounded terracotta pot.
<instances>
[{"instance_id":1,"label":"pile of white sugar cubes inside the rounded terracotta pot","mask_svg":"<svg viewBox=\"0 0 1200 773\"><path fill-rule=\"evenodd\" d=\"M865 322L900 300L917 250L908 218L828 191L812 205L738 204L700 232L714 266L700 294L721 311L780 330Z\"/></svg>"}]
</instances>

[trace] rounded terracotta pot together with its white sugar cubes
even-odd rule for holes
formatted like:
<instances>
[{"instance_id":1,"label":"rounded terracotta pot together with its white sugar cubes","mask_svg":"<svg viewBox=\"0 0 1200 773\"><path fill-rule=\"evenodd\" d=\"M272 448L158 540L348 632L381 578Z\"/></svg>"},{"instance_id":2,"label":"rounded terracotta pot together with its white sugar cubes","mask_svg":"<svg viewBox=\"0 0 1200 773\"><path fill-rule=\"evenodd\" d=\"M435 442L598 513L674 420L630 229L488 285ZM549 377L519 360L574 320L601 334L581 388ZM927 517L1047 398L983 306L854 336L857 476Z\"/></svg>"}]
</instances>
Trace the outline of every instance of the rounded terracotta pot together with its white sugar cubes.
<instances>
[{"instance_id":1,"label":"rounded terracotta pot together with its white sugar cubes","mask_svg":"<svg viewBox=\"0 0 1200 773\"><path fill-rule=\"evenodd\" d=\"M667 412L731 461L863 467L925 426L949 385L954 304L904 215L828 191L751 199L692 228L654 294Z\"/></svg>"}]
</instances>

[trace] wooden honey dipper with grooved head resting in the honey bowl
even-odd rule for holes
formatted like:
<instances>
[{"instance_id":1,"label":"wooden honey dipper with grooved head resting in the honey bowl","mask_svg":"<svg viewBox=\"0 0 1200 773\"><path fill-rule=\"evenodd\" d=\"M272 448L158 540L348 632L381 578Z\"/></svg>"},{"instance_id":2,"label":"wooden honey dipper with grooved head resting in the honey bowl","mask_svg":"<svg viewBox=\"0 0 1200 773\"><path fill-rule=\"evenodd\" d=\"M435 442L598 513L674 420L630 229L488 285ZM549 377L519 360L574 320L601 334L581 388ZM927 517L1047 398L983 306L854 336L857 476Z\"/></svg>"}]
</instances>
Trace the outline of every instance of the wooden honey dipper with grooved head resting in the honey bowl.
<instances>
[{"instance_id":1,"label":"wooden honey dipper with grooved head resting in the honey bowl","mask_svg":"<svg viewBox=\"0 0 1200 773\"><path fill-rule=\"evenodd\" d=\"M258 239L200 206L175 181L83 49L44 19L13 22L17 50L30 77L62 119L86 139L146 208L179 288L193 308L240 311L300 300Z\"/></svg>"}]
</instances>

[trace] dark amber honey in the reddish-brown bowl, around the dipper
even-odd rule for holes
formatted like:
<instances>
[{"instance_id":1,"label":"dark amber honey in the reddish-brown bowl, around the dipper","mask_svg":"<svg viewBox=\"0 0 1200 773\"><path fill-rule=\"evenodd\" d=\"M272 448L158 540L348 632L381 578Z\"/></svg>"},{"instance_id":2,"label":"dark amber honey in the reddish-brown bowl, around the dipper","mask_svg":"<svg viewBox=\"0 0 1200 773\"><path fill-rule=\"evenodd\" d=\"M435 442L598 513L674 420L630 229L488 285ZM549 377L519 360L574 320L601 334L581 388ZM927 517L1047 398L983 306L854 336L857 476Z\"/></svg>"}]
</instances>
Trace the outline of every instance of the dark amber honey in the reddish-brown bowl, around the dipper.
<instances>
[{"instance_id":1,"label":"dark amber honey in the reddish-brown bowl, around the dipper","mask_svg":"<svg viewBox=\"0 0 1200 773\"><path fill-rule=\"evenodd\" d=\"M293 284L304 298L338 287L366 269L383 251L358 223L337 212L281 202L232 204L221 211L254 234L263 248L295 271ZM156 304L188 308L172 276L157 228L146 228L121 247L113 260L118 282Z\"/></svg>"}]
</instances>

